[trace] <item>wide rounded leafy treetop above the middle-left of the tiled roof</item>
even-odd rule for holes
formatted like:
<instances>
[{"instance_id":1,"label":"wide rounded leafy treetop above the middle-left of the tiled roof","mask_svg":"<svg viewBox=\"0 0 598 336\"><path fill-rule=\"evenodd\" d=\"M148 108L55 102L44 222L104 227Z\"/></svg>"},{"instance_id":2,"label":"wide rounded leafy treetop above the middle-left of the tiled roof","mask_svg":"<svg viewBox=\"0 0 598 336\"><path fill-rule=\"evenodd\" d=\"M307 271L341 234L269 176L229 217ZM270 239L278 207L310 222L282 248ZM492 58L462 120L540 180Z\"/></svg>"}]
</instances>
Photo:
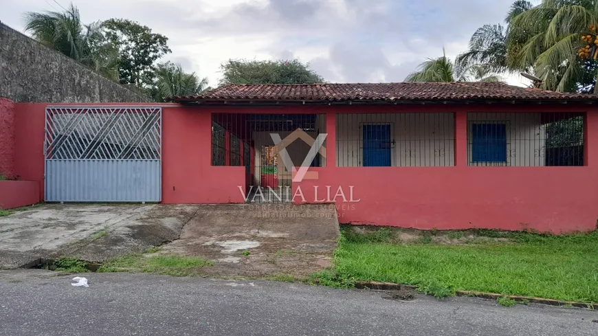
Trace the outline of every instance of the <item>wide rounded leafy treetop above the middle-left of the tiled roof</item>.
<instances>
[{"instance_id":1,"label":"wide rounded leafy treetop above the middle-left of the tiled roof","mask_svg":"<svg viewBox=\"0 0 598 336\"><path fill-rule=\"evenodd\" d=\"M313 84L324 78L299 60L228 60L220 65L225 84Z\"/></svg>"}]
</instances>

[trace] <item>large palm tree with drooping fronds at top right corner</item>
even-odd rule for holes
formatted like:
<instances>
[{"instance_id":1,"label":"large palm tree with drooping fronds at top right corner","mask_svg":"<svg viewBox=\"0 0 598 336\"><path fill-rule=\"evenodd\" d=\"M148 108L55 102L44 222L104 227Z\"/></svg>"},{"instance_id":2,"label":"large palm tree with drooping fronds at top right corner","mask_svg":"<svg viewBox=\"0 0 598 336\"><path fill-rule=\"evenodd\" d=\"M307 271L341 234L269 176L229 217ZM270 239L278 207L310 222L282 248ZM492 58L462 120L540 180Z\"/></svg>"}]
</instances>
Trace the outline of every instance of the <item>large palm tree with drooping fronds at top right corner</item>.
<instances>
[{"instance_id":1,"label":"large palm tree with drooping fronds at top right corner","mask_svg":"<svg viewBox=\"0 0 598 336\"><path fill-rule=\"evenodd\" d=\"M543 0L512 21L513 27L528 35L517 54L518 65L533 66L544 89L577 91L586 71L595 69L577 56L581 36L597 23L598 1ZM594 93L598 93L597 86Z\"/></svg>"}]
</instances>

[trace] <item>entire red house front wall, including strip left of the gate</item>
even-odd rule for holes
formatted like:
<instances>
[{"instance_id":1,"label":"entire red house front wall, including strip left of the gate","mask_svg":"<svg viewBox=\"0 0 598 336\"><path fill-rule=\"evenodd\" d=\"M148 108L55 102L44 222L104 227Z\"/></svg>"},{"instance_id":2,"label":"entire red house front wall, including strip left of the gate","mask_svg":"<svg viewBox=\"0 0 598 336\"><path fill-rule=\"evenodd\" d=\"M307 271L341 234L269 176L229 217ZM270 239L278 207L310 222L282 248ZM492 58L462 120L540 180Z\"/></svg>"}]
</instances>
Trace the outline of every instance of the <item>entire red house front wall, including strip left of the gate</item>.
<instances>
[{"instance_id":1,"label":"entire red house front wall, including strip left of the gate","mask_svg":"<svg viewBox=\"0 0 598 336\"><path fill-rule=\"evenodd\" d=\"M43 126L47 104L15 104L14 171L38 181L43 199ZM81 104L79 104L81 105ZM123 104L113 104L120 105ZM140 106L142 104L129 104ZM155 104L146 104L153 105ZM598 219L598 109L582 105L424 105L420 107L208 108L163 104L162 202L244 203L245 168L211 166L211 113L326 113L326 167L318 180L294 183L309 203L320 192L353 186L359 202L337 197L340 223L418 229L590 231ZM590 110L591 109L591 110ZM335 113L456 113L454 167L336 167ZM469 167L467 112L588 112L586 166ZM1 187L0 187L1 188ZM318 200L322 195L318 195ZM324 200L327 201L327 200ZM300 198L296 203L302 203Z\"/></svg>"}]
</instances>

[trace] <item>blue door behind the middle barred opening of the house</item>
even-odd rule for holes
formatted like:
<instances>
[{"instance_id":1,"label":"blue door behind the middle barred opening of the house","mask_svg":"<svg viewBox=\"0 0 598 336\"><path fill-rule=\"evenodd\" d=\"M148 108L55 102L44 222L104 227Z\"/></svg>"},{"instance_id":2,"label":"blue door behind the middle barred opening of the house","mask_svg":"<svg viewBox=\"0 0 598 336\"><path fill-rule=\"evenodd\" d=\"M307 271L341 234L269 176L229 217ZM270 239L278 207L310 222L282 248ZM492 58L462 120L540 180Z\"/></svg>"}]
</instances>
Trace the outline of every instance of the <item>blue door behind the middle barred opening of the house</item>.
<instances>
[{"instance_id":1,"label":"blue door behind the middle barred opening of the house","mask_svg":"<svg viewBox=\"0 0 598 336\"><path fill-rule=\"evenodd\" d=\"M390 124L364 125L364 167L390 166Z\"/></svg>"}]
</instances>

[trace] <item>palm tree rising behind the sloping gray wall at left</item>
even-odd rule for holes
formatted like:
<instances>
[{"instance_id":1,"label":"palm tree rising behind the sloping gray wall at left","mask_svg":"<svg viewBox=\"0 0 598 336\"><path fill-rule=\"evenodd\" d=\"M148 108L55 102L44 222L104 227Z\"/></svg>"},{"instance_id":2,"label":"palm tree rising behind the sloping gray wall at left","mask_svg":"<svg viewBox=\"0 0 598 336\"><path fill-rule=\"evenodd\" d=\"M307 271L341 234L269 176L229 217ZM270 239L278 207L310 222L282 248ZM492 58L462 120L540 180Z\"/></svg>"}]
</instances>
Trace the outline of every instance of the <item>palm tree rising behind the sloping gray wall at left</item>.
<instances>
[{"instance_id":1,"label":"palm tree rising behind the sloping gray wall at left","mask_svg":"<svg viewBox=\"0 0 598 336\"><path fill-rule=\"evenodd\" d=\"M117 80L118 50L105 40L102 30L101 22L83 25L72 3L65 12L25 13L25 31L38 42Z\"/></svg>"}]
</instances>

